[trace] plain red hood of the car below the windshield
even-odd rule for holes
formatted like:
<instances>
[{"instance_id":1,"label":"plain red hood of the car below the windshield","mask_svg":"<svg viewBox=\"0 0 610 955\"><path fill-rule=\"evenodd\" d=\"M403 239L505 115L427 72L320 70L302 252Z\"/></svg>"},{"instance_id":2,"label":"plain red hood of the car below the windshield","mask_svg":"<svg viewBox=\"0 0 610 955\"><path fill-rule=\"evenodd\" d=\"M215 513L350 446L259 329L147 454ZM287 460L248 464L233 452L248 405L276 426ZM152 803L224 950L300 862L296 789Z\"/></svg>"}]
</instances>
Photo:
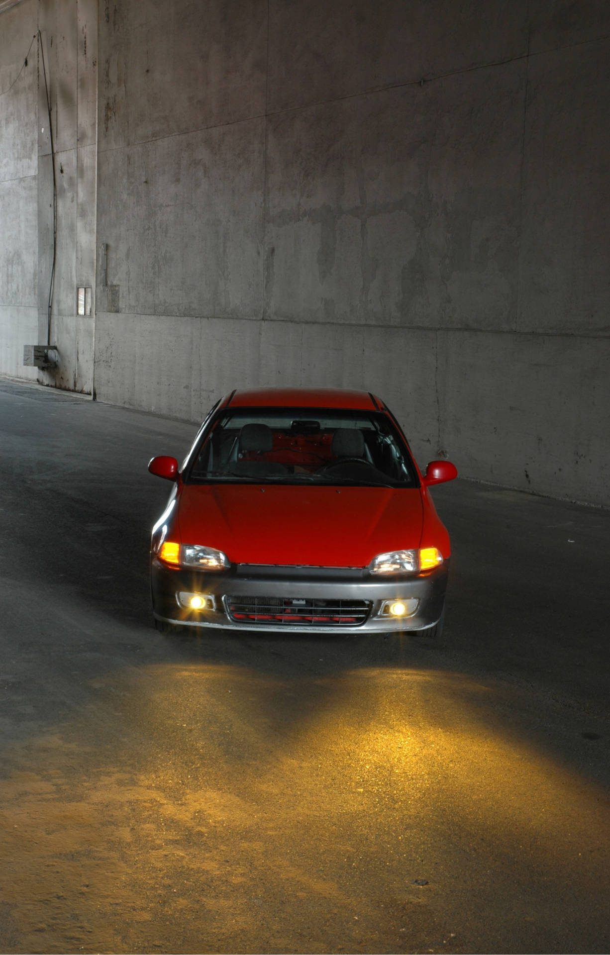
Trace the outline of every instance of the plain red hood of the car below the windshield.
<instances>
[{"instance_id":1,"label":"plain red hood of the car below the windshield","mask_svg":"<svg viewBox=\"0 0 610 955\"><path fill-rule=\"evenodd\" d=\"M419 546L418 488L183 485L179 535L234 563L364 567Z\"/></svg>"}]
</instances>

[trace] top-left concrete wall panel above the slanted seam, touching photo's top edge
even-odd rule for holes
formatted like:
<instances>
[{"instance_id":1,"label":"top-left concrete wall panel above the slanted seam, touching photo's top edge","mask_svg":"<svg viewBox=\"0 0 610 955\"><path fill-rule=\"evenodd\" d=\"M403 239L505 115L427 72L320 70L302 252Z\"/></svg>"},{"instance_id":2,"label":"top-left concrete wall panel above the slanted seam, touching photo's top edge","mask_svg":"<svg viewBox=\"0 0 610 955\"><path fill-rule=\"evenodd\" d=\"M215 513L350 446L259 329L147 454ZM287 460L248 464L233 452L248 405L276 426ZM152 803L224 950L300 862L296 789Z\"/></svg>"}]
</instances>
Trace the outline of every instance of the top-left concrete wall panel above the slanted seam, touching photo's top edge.
<instances>
[{"instance_id":1,"label":"top-left concrete wall panel above the slanted seam, touching photo's top edge","mask_svg":"<svg viewBox=\"0 0 610 955\"><path fill-rule=\"evenodd\" d=\"M100 151L264 113L266 0L100 0Z\"/></svg>"}]
</instances>

